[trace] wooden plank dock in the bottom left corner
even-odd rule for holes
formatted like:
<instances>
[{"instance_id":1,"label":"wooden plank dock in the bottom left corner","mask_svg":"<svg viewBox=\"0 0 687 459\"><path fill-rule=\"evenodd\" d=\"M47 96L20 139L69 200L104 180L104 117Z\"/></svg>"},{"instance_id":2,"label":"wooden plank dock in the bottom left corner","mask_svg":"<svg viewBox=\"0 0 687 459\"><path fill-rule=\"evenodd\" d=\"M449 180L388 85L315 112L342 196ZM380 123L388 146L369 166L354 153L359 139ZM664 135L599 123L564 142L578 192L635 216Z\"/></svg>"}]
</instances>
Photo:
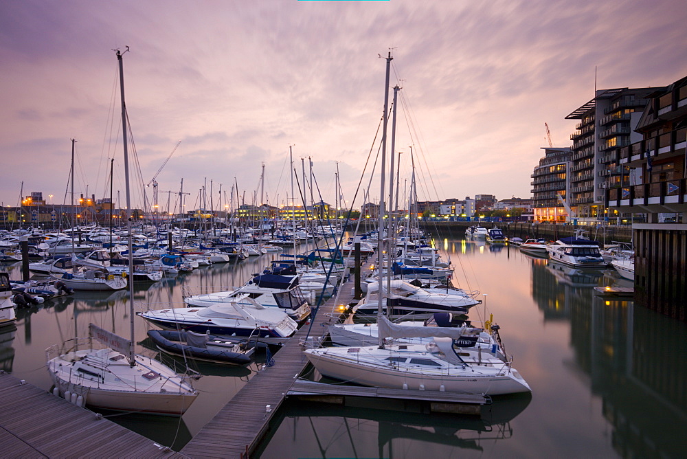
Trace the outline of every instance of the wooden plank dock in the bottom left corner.
<instances>
[{"instance_id":1,"label":"wooden plank dock in the bottom left corner","mask_svg":"<svg viewBox=\"0 0 687 459\"><path fill-rule=\"evenodd\" d=\"M0 373L0 456L185 458L102 416Z\"/></svg>"}]
</instances>

